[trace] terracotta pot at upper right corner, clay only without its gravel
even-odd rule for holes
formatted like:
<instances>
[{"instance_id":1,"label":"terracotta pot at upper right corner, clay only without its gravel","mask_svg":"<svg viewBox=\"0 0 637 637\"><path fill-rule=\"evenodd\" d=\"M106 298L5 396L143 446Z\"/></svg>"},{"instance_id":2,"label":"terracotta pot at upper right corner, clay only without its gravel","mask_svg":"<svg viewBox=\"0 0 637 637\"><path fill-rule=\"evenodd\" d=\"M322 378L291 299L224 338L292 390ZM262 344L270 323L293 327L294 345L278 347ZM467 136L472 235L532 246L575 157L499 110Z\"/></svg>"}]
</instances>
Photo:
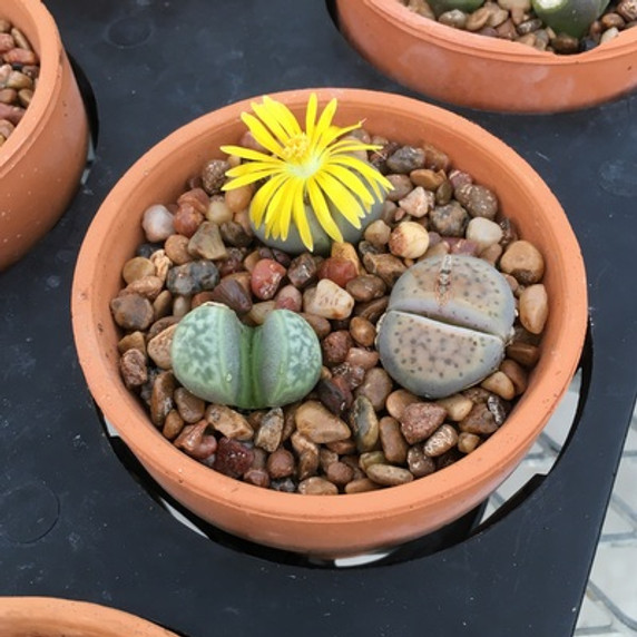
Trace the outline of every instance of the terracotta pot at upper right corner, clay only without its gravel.
<instances>
[{"instance_id":1,"label":"terracotta pot at upper right corner, clay only without its gravel","mask_svg":"<svg viewBox=\"0 0 637 637\"><path fill-rule=\"evenodd\" d=\"M340 28L375 68L430 97L472 108L552 112L637 87L637 30L574 56L440 24L399 0L336 0Z\"/></svg>"}]
</instances>

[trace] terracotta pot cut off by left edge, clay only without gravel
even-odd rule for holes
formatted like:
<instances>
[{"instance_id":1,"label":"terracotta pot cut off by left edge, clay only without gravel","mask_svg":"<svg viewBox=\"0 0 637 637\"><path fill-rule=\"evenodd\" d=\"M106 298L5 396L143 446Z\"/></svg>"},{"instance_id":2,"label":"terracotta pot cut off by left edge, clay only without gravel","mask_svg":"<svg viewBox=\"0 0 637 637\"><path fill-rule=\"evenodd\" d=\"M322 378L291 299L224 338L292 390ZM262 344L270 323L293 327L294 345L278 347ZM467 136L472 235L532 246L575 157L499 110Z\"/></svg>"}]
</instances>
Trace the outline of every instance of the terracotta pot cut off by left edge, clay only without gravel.
<instances>
[{"instance_id":1,"label":"terracotta pot cut off by left edge, clay only without gravel","mask_svg":"<svg viewBox=\"0 0 637 637\"><path fill-rule=\"evenodd\" d=\"M58 220L86 165L88 121L51 14L40 0L3 0L0 18L29 39L40 77L24 116L0 146L0 270Z\"/></svg>"}]
</instances>

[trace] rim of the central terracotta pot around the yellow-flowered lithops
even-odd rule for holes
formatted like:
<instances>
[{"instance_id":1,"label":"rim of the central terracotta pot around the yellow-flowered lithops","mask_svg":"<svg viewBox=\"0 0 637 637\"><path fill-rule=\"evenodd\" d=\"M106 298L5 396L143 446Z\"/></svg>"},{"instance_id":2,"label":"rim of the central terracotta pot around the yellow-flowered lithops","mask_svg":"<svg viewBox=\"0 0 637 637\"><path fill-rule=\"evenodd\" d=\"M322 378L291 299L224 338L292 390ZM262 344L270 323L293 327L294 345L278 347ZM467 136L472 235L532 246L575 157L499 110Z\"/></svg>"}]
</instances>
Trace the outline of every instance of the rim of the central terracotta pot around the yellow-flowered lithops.
<instances>
[{"instance_id":1,"label":"rim of the central terracotta pot around the yellow-flowered lithops","mask_svg":"<svg viewBox=\"0 0 637 637\"><path fill-rule=\"evenodd\" d=\"M532 386L527 390L522 401L507 421L507 427L498 431L492 438L480 445L476 451L461 459L449 468L437 471L427 478L414 480L411 483L380 489L376 491L340 494L331 498L322 496L302 496L298 493L282 493L268 489L262 489L252 484L228 478L200 464L176 449L149 421L143 408L136 402L137 399L119 379L117 386L112 385L112 379L107 369L111 365L108 355L100 351L100 343L94 335L95 325L90 322L91 311L87 304L95 304L90 290L99 280L96 268L96 258L99 258L100 236L109 231L111 219L109 209L117 209L120 202L125 202L127 194L134 189L153 170L161 170L163 164L169 158L176 146L186 146L206 130L215 127L217 130L228 126L228 120L234 125L239 119L243 110L249 109L251 101L261 96L248 98L208 112L165 137L145 155L143 155L116 184L107 196L100 210L85 237L80 251L72 292L72 320L77 351L84 373L90 391L99 404L106 419L115 425L122 440L131 448L143 464L161 465L166 476L176 482L187 483L188 489L204 494L212 501L223 502L224 507L242 511L254 511L255 514L271 519L297 520L310 523L321 521L322 525L342 525L349 520L373 520L383 516L411 510L415 503L423 508L429 502L440 502L461 496L460 503L455 503L461 510L464 507L462 500L463 487L489 483L499 472L502 458L516 455L520 449L530 448L546 424L557 401L566 392L568 384L579 362L579 355L586 332L588 315L587 290L584 261L579 245L568 219L561 209L557 198L548 186L540 179L530 165L514 153L503 141L472 124L468 119L444 110L433 105L409 98L402 95L373 91L365 89L345 88L314 88L270 94L271 97L282 101L302 99L306 102L310 92L315 91L320 104L326 99L336 97L347 104L347 108L355 110L369 105L370 99L382 99L383 105L389 105L388 111L400 117L412 114L416 109L419 115L427 114L435 118L440 126L448 128L458 135L463 135L471 145L484 149L488 147L494 160L499 161L502 170L517 173L517 179L523 183L528 189L539 193L543 202L547 202L550 212L547 216L552 219L551 227L546 228L549 233L560 236L564 246L557 255L551 255L551 267L561 272L568 272L572 280L575 293L569 298L569 311L566 313L564 324L559 332L559 352L543 352L547 357L547 369L541 378L537 378ZM217 149L210 148L210 156ZM568 255L568 258L567 256ZM116 372L117 373L117 372ZM121 420L122 405L126 405L126 418ZM133 413L131 413L133 412ZM119 416L118 416L119 413ZM541 414L541 415L537 415ZM514 422L531 419L533 427L516 427ZM133 434L130 433L133 431ZM461 467L461 469L459 469ZM461 474L461 480L458 479Z\"/></svg>"}]
</instances>

